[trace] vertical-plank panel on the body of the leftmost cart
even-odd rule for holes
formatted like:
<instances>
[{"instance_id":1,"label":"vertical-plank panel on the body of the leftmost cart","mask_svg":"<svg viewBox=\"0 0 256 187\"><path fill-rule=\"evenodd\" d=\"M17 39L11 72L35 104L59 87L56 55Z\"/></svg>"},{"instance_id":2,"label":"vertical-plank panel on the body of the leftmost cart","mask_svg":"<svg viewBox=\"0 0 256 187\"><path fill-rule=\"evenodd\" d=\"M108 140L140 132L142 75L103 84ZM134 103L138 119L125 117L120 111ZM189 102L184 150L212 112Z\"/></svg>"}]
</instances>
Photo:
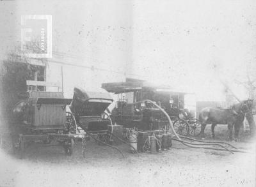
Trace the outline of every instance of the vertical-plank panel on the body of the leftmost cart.
<instances>
[{"instance_id":1,"label":"vertical-plank panel on the body of the leftmost cart","mask_svg":"<svg viewBox=\"0 0 256 187\"><path fill-rule=\"evenodd\" d=\"M66 110L63 105L33 105L29 118L29 123L34 126L64 126Z\"/></svg>"}]
</instances>

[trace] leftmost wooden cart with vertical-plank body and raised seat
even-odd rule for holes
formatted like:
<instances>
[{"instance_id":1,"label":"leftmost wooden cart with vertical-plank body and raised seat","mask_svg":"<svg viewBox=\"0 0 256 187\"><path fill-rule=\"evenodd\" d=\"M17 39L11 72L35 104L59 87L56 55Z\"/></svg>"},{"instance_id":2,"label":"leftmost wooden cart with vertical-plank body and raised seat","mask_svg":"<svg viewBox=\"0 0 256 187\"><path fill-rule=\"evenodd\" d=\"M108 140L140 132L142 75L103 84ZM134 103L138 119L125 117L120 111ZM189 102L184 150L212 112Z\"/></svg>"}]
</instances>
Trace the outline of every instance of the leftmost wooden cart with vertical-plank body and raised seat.
<instances>
[{"instance_id":1,"label":"leftmost wooden cart with vertical-plank body and raised seat","mask_svg":"<svg viewBox=\"0 0 256 187\"><path fill-rule=\"evenodd\" d=\"M22 132L19 135L19 154L23 157L26 147L32 142L44 144L57 143L64 147L65 153L72 154L76 134L68 129L74 116L66 112L72 99L64 98L60 86L51 82L28 80L28 100L20 108ZM38 86L57 87L58 91L38 91Z\"/></svg>"}]
</instances>

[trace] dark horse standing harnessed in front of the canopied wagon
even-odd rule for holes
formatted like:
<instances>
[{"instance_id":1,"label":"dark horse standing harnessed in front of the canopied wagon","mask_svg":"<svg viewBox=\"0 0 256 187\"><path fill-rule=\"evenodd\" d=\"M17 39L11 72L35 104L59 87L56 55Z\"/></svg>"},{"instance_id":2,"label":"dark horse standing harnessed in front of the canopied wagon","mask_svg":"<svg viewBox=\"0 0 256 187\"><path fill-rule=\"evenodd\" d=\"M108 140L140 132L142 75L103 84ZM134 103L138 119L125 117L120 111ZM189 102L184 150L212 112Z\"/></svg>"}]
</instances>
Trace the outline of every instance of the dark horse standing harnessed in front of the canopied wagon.
<instances>
[{"instance_id":1,"label":"dark horse standing harnessed in front of the canopied wagon","mask_svg":"<svg viewBox=\"0 0 256 187\"><path fill-rule=\"evenodd\" d=\"M253 100L244 100L240 103L232 105L230 108L212 108L206 107L200 111L199 121L202 123L200 135L205 137L206 124L212 124L212 138L215 137L214 128L216 124L228 124L229 139L233 139L232 130L235 129L235 140L238 139L241 124L243 124L244 116L246 113L252 111Z\"/></svg>"}]
</instances>

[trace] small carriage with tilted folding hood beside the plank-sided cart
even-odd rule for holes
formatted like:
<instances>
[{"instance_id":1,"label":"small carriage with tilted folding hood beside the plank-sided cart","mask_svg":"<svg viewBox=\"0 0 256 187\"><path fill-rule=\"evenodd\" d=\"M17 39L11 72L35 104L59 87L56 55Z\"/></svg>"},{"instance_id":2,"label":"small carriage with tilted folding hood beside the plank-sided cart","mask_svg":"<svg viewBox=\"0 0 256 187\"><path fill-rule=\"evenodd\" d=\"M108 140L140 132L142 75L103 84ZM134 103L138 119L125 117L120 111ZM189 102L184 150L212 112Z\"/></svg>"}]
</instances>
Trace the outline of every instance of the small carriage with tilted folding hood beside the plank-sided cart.
<instances>
[{"instance_id":1,"label":"small carriage with tilted folding hood beside the plank-sided cart","mask_svg":"<svg viewBox=\"0 0 256 187\"><path fill-rule=\"evenodd\" d=\"M113 98L109 93L84 91L75 87L70 104L70 114L75 120L70 123L69 128L74 133L86 131L90 135L97 135L100 141L110 143L109 132L113 132L113 124L108 113L104 111L112 102Z\"/></svg>"}]
</instances>

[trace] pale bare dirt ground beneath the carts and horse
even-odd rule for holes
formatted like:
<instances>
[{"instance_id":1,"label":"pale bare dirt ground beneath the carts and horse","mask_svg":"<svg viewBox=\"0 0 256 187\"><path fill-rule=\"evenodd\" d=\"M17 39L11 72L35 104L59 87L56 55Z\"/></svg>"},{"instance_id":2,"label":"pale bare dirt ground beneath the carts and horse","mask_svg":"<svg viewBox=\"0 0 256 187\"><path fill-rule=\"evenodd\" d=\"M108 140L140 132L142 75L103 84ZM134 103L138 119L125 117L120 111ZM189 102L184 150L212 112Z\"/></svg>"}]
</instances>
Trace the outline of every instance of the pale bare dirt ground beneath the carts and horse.
<instances>
[{"instance_id":1,"label":"pale bare dirt ground beneath the carts and horse","mask_svg":"<svg viewBox=\"0 0 256 187\"><path fill-rule=\"evenodd\" d=\"M207 126L207 140L210 129ZM227 126L216 126L216 139L226 138ZM255 143L244 133L241 142L231 143L249 153L193 149L173 142L168 151L138 156L119 144L122 158L90 140L86 158L78 142L72 156L60 146L34 144L20 160L1 149L0 186L255 186Z\"/></svg>"}]
</instances>

